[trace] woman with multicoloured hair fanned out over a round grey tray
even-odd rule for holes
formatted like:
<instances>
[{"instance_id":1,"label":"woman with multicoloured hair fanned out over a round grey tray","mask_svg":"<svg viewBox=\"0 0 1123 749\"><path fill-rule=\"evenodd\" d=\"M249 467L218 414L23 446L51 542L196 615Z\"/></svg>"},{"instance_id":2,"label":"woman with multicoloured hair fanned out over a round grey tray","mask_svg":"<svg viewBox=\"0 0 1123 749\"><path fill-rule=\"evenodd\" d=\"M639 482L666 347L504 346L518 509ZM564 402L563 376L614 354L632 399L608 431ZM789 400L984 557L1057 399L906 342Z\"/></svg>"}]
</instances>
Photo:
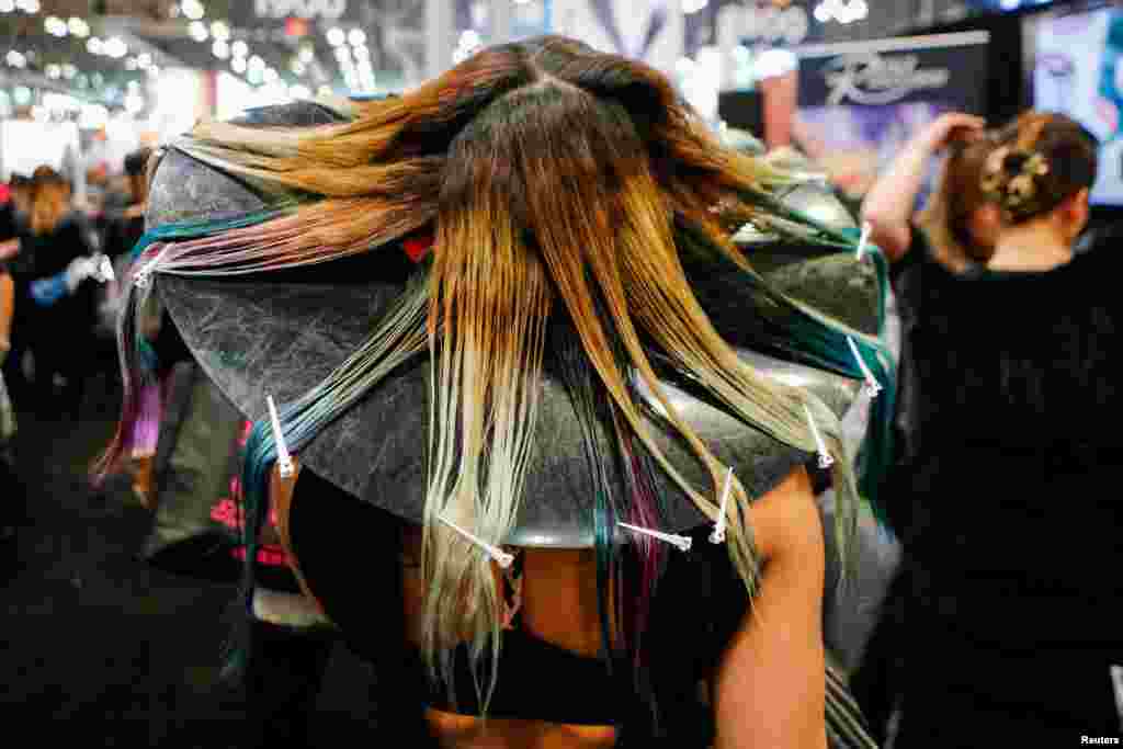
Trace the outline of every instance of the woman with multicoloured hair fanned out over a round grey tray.
<instances>
[{"instance_id":1,"label":"woman with multicoloured hair fanned out over a round grey tray","mask_svg":"<svg viewBox=\"0 0 1123 749\"><path fill-rule=\"evenodd\" d=\"M824 676L807 466L831 469L844 540L838 387L889 385L884 347L730 237L830 248L862 283L876 261L785 210L788 177L723 148L665 76L568 39L345 109L176 144L243 197L166 158L150 216L161 194L165 219L213 208L155 226L130 290L158 289L258 420L248 570L272 505L407 746L867 746ZM137 413L135 335L126 314L108 460Z\"/></svg>"}]
</instances>

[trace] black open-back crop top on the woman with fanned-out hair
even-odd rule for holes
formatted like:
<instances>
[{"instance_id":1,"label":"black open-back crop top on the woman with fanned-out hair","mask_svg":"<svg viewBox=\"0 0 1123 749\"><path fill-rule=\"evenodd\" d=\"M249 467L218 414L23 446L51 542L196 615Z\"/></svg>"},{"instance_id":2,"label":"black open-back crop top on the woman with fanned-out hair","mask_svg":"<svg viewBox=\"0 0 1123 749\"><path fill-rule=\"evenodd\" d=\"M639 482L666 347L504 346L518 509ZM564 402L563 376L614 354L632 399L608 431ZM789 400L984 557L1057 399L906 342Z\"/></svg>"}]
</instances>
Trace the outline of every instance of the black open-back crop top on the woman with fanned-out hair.
<instances>
[{"instance_id":1,"label":"black open-back crop top on the woman with fanned-out hair","mask_svg":"<svg viewBox=\"0 0 1123 749\"><path fill-rule=\"evenodd\" d=\"M290 519L293 552L309 587L348 645L376 666L389 649L400 647L393 640L404 642L403 616L398 614L401 601L391 600L395 590L401 595L401 570L394 564L399 557L384 554L394 548L392 538L400 537L399 522L310 471L301 472ZM724 547L706 542L709 530L692 533L690 554L670 556L652 604L652 624L645 634L658 659L652 664L657 667L652 682L660 714L673 721L665 727L666 746L707 746L710 713L699 702L697 683L718 663L748 606L745 585ZM382 551L372 558L372 550L377 549ZM463 648L456 654L457 704L447 689L422 684L424 672L417 654L405 659L419 704L459 714L482 712ZM636 709L628 704L631 674L627 667L612 672L615 675L603 660L577 656L515 625L503 633L489 715L620 724ZM405 689L403 685L400 692Z\"/></svg>"}]
</instances>

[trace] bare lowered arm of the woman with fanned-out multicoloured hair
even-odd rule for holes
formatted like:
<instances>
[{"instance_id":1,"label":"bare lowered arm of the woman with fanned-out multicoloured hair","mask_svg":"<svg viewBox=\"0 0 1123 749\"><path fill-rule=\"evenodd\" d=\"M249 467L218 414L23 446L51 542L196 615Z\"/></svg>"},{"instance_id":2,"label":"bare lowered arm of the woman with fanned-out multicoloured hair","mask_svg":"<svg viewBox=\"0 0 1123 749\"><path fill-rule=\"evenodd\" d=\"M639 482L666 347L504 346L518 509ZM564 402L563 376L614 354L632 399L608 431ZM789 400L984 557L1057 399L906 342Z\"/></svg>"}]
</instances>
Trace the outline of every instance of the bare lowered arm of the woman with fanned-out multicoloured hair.
<instances>
[{"instance_id":1,"label":"bare lowered arm of the woman with fanned-out multicoloured hair","mask_svg":"<svg viewBox=\"0 0 1123 749\"><path fill-rule=\"evenodd\" d=\"M751 508L760 592L714 675L714 749L825 749L823 529L806 471Z\"/></svg>"}]
</instances>

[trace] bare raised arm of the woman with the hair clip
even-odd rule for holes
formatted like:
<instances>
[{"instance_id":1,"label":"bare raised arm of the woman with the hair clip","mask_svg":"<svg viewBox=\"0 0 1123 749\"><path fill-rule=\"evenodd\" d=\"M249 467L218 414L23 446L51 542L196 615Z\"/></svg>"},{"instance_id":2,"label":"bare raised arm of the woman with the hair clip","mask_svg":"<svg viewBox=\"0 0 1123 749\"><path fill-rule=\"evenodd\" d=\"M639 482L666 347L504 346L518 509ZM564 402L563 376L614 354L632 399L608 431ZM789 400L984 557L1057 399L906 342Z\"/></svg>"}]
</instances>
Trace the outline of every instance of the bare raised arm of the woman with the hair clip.
<instances>
[{"instance_id":1,"label":"bare raised arm of the woman with the hair clip","mask_svg":"<svg viewBox=\"0 0 1123 749\"><path fill-rule=\"evenodd\" d=\"M904 257L912 244L910 221L929 159L953 139L977 136L984 126L982 118L971 115L941 115L909 141L888 171L870 188L861 204L861 219L873 229L870 241L880 247L891 262Z\"/></svg>"}]
</instances>

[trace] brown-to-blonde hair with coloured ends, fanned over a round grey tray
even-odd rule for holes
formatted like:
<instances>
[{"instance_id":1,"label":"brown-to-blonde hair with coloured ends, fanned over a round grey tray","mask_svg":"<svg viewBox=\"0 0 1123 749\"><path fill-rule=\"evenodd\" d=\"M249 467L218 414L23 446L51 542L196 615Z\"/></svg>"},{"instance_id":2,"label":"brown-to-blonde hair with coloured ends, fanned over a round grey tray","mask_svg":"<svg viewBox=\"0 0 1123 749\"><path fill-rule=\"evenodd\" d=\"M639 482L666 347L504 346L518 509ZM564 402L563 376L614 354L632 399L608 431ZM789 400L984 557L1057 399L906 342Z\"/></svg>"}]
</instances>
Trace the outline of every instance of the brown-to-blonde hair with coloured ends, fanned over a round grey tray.
<instances>
[{"instance_id":1,"label":"brown-to-blonde hair with coloured ends, fanned over a round grey tray","mask_svg":"<svg viewBox=\"0 0 1123 749\"><path fill-rule=\"evenodd\" d=\"M705 261L763 283L729 229L766 220L767 191L789 177L723 148L655 70L557 37L485 49L416 91L357 111L354 121L310 129L199 126L179 147L252 181L277 209L252 225L157 241L146 257L158 272L236 274L378 252L419 234L433 238L423 282L407 290L363 350L282 409L281 420L286 442L299 449L396 364L431 355L423 629L436 670L449 675L451 647L465 636L474 661L499 649L491 559L441 520L493 546L513 530L533 457L544 362L562 356L550 339L555 322L573 341L576 374L567 390L615 445L606 455L592 440L590 455L622 466L620 481L602 482L595 497L609 518L599 545L618 546L617 520L658 523L657 501L646 495L649 464L703 515L719 514L728 466L681 418L657 366L686 375L783 444L814 454L821 437L834 458L840 527L852 529L857 490L838 419L810 392L742 362L685 270L685 261ZM848 335L873 345L782 295L773 301L786 305L785 320L836 335L842 350ZM704 486L692 485L659 448L639 383L705 468ZM119 436L126 432L122 426ZM264 422L255 435L247 492L275 457ZM736 478L732 492L727 548L751 592L752 497ZM658 545L634 547L648 558L661 552ZM617 564L611 574L621 569Z\"/></svg>"}]
</instances>

